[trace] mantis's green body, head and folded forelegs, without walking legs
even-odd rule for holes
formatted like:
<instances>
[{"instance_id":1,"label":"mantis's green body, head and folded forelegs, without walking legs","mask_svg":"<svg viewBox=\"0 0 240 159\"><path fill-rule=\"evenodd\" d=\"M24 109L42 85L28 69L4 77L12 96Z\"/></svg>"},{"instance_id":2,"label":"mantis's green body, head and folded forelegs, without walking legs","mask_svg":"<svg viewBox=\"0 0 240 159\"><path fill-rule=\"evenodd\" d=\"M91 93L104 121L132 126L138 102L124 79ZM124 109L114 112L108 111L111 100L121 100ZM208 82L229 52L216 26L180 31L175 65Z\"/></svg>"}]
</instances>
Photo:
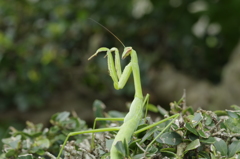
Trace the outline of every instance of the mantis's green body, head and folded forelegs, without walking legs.
<instances>
[{"instance_id":1,"label":"mantis's green body, head and folded forelegs, without walking legs","mask_svg":"<svg viewBox=\"0 0 240 159\"><path fill-rule=\"evenodd\" d=\"M107 52L108 70L109 70L110 76L112 77L115 89L122 89L124 87L124 85L126 84L131 72L133 72L134 85L135 85L135 96L134 96L133 102L130 106L130 110L129 110L128 114L125 116L124 122L115 137L113 145L115 145L118 141L124 142L124 140L126 140L126 143L129 143L132 134L136 130L139 122L141 121L141 119L143 117L143 107L149 97L149 95L147 95L147 97L145 99L143 98L137 53L135 50L132 49L132 47L124 48L122 58L124 59L127 56L130 56L131 61L125 67L125 69L122 73L118 49L116 49L116 48L112 48L112 49L100 48L97 50L97 52L93 56L96 56L99 52L102 52L102 51ZM112 52L115 52L115 65L113 62ZM92 57L90 57L90 59ZM115 146L112 146L110 154L111 154L111 158L117 159L120 156L120 154L117 151Z\"/></svg>"}]
</instances>

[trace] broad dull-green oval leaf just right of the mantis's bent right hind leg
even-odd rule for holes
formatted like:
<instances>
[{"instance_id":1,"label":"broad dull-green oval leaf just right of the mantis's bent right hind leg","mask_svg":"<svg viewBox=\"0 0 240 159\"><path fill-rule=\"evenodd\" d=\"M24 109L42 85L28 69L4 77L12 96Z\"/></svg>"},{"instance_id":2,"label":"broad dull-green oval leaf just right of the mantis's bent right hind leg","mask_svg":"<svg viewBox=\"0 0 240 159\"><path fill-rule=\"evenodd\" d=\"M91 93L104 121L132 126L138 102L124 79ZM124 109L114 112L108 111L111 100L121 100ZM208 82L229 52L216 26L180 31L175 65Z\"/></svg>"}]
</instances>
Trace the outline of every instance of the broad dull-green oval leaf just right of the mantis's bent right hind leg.
<instances>
[{"instance_id":1,"label":"broad dull-green oval leaf just right of the mantis's bent right hind leg","mask_svg":"<svg viewBox=\"0 0 240 159\"><path fill-rule=\"evenodd\" d=\"M156 141L175 146L182 142L182 137L176 132L165 132Z\"/></svg>"}]
</instances>

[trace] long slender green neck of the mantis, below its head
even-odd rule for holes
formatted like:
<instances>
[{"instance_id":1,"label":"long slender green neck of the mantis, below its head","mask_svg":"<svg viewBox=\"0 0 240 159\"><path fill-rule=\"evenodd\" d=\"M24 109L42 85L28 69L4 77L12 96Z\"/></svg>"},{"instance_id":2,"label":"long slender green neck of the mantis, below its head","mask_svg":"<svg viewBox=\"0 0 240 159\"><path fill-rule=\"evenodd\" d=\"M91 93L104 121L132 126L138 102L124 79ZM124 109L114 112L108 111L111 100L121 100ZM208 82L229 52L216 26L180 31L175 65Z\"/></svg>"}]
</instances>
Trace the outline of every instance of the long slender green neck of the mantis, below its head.
<instances>
[{"instance_id":1,"label":"long slender green neck of the mantis, below its head","mask_svg":"<svg viewBox=\"0 0 240 159\"><path fill-rule=\"evenodd\" d=\"M131 63L132 63L132 72L133 72L133 80L134 80L134 87L135 87L135 97L142 99L143 98L142 85L141 85L140 71L138 66L138 57L135 50L132 50L132 53L131 53Z\"/></svg>"}]
</instances>

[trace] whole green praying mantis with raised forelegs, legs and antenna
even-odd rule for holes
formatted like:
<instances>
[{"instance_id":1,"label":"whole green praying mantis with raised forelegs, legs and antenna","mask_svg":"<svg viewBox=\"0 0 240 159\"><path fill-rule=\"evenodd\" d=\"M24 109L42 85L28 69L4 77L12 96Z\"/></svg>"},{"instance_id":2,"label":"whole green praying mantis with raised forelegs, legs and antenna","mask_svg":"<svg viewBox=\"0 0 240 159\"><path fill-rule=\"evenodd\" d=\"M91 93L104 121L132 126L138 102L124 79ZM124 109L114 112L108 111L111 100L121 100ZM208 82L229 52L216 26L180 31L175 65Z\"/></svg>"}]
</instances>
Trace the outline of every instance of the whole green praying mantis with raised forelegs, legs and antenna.
<instances>
[{"instance_id":1,"label":"whole green praying mantis with raised forelegs, legs and antenna","mask_svg":"<svg viewBox=\"0 0 240 159\"><path fill-rule=\"evenodd\" d=\"M95 20L93 20L93 21L95 21ZM98 23L98 22L96 22L96 23ZM99 25L101 25L101 24L99 24ZM101 25L101 26L103 28L105 28L107 31L109 31L103 25ZM115 38L117 38L111 31L109 31L109 32ZM119 39L117 38L117 40L119 40ZM120 41L120 43L122 43L122 42ZM141 78L140 78L137 52L132 47L125 47L125 45L123 43L122 43L122 45L124 46L124 51L122 53L122 59L125 59L128 56L131 59L129 64L127 64L125 66L123 72L122 72L122 69L121 69L119 51L115 47L113 47L111 49L106 48L106 47L101 47L88 60L92 59L94 56L98 55L100 52L106 52L109 74L110 74L110 77L112 78L113 85L114 85L114 88L116 90L122 89L125 86L126 82L128 81L131 73L133 74L135 95L134 95L134 99L131 103L129 112L126 114L124 119L120 119L120 120L123 120L123 124L120 127L101 128L101 129L93 129L93 130L86 130L86 131L69 133L68 136L66 137L60 151L59 151L57 159L60 158L61 153L64 149L64 146L66 145L69 137L74 136L74 135L78 135L78 134L96 133L96 132L105 132L105 131L118 131L118 133L115 136L115 139L112 143L112 146L111 146L110 158L111 159L123 159L124 156L118 151L118 149L115 146L118 142L128 144L128 143L130 143L133 135L138 134L140 132L143 132L147 129L150 129L152 127L155 127L155 126L157 126L157 125L159 125L163 122L166 122L166 121L172 119L171 122L161 131L161 133L159 133L157 135L156 138L158 138L178 118L179 114L175 114L175 115L172 115L168 118L165 118L161 121L158 121L158 122L156 122L152 125L146 126L142 129L139 129L139 130L136 131L136 129L137 129L142 117L143 117L144 107L148 104L149 94L147 94L144 97L143 93L142 93L142 86L141 86ZM115 60L113 59L112 53L115 53ZM98 120L98 119L96 119L96 120ZM109 118L105 118L105 119L101 119L101 120L109 120ZM119 118L117 120L119 120ZM146 149L148 149L149 146L154 143L156 138L151 143L149 143L149 145L147 146Z\"/></svg>"}]
</instances>

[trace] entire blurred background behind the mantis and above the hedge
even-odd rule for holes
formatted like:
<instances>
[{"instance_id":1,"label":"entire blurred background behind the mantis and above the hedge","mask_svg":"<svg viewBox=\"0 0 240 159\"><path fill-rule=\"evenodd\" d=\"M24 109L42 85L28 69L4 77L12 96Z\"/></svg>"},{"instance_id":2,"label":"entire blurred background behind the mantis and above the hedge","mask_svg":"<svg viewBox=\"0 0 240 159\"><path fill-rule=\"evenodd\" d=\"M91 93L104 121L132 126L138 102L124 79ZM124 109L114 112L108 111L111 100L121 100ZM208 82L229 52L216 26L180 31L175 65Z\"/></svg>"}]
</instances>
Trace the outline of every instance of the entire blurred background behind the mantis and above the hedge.
<instances>
[{"instance_id":1,"label":"entire blurred background behind the mantis and above the hedge","mask_svg":"<svg viewBox=\"0 0 240 159\"><path fill-rule=\"evenodd\" d=\"M138 52L151 103L168 108L186 89L195 108L240 104L239 10L239 0L1 0L0 134L63 110L91 121L94 99L126 111L133 81L115 91L104 55L87 60L123 47L89 18Z\"/></svg>"}]
</instances>

